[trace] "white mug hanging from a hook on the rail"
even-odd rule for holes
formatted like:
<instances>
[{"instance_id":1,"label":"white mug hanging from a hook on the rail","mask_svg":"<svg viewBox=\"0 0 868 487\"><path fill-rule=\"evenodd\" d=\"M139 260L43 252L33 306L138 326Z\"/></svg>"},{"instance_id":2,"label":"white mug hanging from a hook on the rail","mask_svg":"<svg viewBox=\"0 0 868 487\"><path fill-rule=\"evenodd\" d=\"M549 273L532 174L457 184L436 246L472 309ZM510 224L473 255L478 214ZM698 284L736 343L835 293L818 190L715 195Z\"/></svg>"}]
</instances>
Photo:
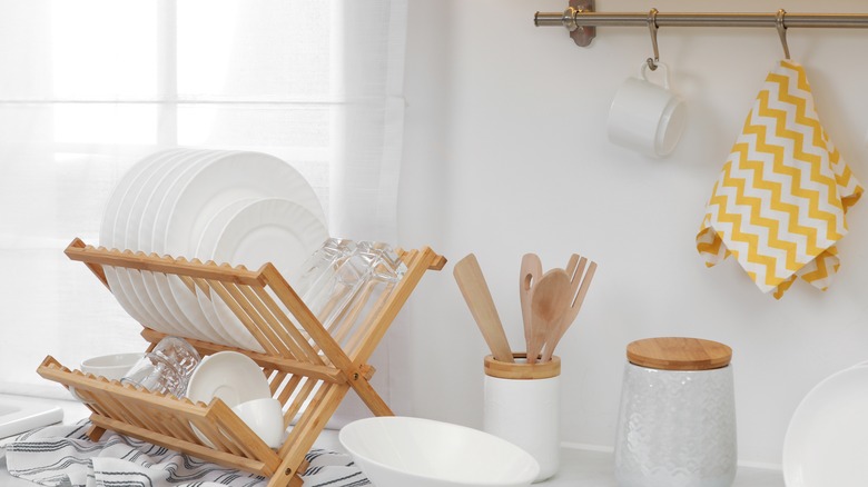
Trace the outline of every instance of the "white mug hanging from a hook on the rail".
<instances>
[{"instance_id":1,"label":"white mug hanging from a hook on the rail","mask_svg":"<svg viewBox=\"0 0 868 487\"><path fill-rule=\"evenodd\" d=\"M639 78L628 78L609 109L609 140L645 156L660 158L675 149L687 122L684 100L669 90L669 70L662 62L663 85L648 79L643 62Z\"/></svg>"}]
</instances>

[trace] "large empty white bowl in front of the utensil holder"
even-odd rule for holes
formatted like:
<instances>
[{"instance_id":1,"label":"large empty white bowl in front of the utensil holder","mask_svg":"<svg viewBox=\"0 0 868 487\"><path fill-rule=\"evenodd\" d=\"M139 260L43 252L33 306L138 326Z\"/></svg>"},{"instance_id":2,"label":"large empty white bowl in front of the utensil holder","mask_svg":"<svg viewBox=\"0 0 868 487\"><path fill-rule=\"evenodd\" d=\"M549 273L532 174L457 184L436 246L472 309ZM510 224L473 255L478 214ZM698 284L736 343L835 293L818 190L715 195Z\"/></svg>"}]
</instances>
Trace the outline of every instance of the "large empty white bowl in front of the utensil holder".
<instances>
[{"instance_id":1,"label":"large empty white bowl in front of the utensil holder","mask_svg":"<svg viewBox=\"0 0 868 487\"><path fill-rule=\"evenodd\" d=\"M506 440L431 419L359 419L338 439L377 487L527 486L540 471L529 453Z\"/></svg>"}]
</instances>

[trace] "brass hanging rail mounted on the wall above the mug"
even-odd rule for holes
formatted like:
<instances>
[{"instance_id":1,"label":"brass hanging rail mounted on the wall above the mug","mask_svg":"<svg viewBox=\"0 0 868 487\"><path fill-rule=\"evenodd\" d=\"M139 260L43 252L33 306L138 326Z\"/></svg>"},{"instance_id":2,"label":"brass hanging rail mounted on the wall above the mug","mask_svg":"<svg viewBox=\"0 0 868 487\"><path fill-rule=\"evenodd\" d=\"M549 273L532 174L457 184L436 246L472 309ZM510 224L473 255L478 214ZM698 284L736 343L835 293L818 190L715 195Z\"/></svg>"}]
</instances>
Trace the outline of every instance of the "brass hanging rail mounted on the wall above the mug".
<instances>
[{"instance_id":1,"label":"brass hanging rail mounted on the wall above the mug","mask_svg":"<svg viewBox=\"0 0 868 487\"><path fill-rule=\"evenodd\" d=\"M657 27L771 27L778 26L778 12L712 13L658 12ZM536 12L536 27L565 27L576 44L588 46L596 27L644 27L648 12L595 12L593 0L572 0L563 12ZM868 13L786 13L783 28L868 28Z\"/></svg>"}]
</instances>

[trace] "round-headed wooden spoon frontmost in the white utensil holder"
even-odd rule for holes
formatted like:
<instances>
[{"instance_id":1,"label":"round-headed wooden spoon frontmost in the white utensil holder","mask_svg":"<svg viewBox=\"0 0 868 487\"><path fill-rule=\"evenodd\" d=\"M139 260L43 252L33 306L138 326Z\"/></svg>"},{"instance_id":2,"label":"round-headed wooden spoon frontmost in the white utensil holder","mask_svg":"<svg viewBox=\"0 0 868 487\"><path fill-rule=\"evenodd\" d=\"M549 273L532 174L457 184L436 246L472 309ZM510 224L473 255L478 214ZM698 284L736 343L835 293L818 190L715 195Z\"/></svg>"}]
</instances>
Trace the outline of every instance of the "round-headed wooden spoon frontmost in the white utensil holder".
<instances>
[{"instance_id":1,"label":"round-headed wooden spoon frontmost in the white utensil holder","mask_svg":"<svg viewBox=\"0 0 868 487\"><path fill-rule=\"evenodd\" d=\"M527 364L536 362L545 338L552 334L552 328L558 325L569 308L571 298L570 277L563 269L551 269L533 287L531 299L533 322L531 344L527 347Z\"/></svg>"}]
</instances>

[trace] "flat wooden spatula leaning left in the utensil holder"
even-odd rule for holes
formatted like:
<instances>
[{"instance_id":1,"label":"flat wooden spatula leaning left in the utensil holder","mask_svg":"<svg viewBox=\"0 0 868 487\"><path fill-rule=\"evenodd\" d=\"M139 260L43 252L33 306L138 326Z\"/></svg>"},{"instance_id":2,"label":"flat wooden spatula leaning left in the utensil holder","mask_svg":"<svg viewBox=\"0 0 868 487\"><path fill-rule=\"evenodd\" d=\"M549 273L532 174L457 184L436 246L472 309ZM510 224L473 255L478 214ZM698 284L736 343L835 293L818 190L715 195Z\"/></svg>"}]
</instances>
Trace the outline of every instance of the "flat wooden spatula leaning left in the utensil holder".
<instances>
[{"instance_id":1,"label":"flat wooden spatula leaning left in the utensil holder","mask_svg":"<svg viewBox=\"0 0 868 487\"><path fill-rule=\"evenodd\" d=\"M494 299L491 297L489 285L482 275L480 262L473 254L467 255L455 264L452 270L455 281L458 284L461 295L467 302L467 308L476 321L476 326L482 331L482 337L489 345L492 355L501 361L514 362L512 349L506 341L506 334L503 331L501 317L494 307Z\"/></svg>"}]
</instances>

